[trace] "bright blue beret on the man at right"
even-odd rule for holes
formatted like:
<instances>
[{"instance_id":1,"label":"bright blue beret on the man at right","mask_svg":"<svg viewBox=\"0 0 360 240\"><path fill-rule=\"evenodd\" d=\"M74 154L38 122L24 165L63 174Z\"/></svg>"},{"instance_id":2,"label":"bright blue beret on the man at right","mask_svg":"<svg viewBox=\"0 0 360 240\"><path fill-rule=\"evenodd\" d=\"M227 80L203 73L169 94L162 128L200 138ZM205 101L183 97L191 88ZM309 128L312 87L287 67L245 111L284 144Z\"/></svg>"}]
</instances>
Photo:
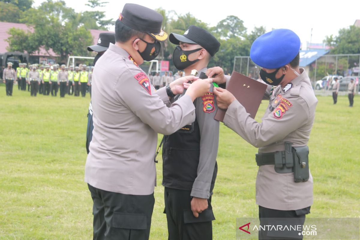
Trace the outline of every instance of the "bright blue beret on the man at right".
<instances>
[{"instance_id":1,"label":"bright blue beret on the man at right","mask_svg":"<svg viewBox=\"0 0 360 240\"><path fill-rule=\"evenodd\" d=\"M250 49L251 60L263 68L290 63L300 50L300 38L289 29L275 29L258 37Z\"/></svg>"}]
</instances>

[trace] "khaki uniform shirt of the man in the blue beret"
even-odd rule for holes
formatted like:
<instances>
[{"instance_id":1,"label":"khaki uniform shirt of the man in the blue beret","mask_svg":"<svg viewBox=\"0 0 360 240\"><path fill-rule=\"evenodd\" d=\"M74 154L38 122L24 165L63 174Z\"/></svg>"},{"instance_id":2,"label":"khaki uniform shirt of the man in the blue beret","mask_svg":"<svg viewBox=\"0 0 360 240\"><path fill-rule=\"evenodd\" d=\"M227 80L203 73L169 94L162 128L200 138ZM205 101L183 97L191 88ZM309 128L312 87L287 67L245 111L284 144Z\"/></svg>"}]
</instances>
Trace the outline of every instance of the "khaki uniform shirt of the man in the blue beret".
<instances>
[{"instance_id":1,"label":"khaki uniform shirt of the man in the blue beret","mask_svg":"<svg viewBox=\"0 0 360 240\"><path fill-rule=\"evenodd\" d=\"M262 122L250 117L235 100L226 111L224 124L237 132L259 153L284 151L284 142L306 146L315 118L318 100L303 68L284 88L276 87L270 96ZM310 166L311 166L310 159ZM254 161L254 164L255 161ZM274 165L259 166L256 177L256 203L278 210L297 210L312 204L312 176L306 182L294 182L294 173L276 173Z\"/></svg>"}]
</instances>

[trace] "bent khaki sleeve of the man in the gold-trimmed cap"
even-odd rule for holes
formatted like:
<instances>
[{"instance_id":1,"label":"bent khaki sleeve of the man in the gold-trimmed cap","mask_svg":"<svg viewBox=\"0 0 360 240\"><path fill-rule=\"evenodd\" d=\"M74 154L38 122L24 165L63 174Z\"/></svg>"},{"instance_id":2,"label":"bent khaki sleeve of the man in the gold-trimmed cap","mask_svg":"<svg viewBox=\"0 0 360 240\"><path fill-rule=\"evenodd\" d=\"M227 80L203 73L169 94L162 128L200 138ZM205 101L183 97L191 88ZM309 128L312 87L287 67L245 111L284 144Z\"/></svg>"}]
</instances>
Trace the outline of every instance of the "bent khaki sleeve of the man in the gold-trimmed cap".
<instances>
[{"instance_id":1,"label":"bent khaki sleeve of the man in the gold-trimmed cap","mask_svg":"<svg viewBox=\"0 0 360 240\"><path fill-rule=\"evenodd\" d=\"M118 99L154 131L170 135L195 121L195 107L190 96L184 96L168 108L155 89L152 87L148 91L146 82L142 85L141 79L136 80L129 69L120 78L127 81L128 87L122 87L121 80L118 81L115 86Z\"/></svg>"}]
</instances>

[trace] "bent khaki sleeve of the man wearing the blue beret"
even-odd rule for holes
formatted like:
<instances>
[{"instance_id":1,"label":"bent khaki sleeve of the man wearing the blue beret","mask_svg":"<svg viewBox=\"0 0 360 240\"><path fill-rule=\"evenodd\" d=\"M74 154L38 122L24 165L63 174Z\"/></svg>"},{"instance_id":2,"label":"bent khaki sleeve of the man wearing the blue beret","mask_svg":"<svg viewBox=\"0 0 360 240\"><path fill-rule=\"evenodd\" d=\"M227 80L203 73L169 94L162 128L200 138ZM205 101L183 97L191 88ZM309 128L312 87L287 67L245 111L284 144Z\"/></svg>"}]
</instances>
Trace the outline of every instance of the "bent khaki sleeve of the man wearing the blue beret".
<instances>
[{"instance_id":1,"label":"bent khaki sleeve of the man wearing the blue beret","mask_svg":"<svg viewBox=\"0 0 360 240\"><path fill-rule=\"evenodd\" d=\"M288 98L291 107L266 109L262 122L258 123L246 112L238 100L233 101L224 117L225 126L238 133L256 148L282 140L309 119L309 107L302 98Z\"/></svg>"}]
</instances>

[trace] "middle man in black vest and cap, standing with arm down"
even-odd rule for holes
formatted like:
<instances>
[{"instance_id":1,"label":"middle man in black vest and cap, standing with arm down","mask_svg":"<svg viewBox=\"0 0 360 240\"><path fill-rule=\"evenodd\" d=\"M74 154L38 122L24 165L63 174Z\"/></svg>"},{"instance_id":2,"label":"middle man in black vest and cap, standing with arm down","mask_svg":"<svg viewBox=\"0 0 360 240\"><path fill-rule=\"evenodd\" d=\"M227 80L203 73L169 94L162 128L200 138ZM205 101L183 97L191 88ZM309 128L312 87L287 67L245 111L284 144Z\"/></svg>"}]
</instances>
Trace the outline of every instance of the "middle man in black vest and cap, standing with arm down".
<instances>
[{"instance_id":1,"label":"middle man in black vest and cap, standing with arm down","mask_svg":"<svg viewBox=\"0 0 360 240\"><path fill-rule=\"evenodd\" d=\"M195 26L190 26L184 35L171 33L169 40L177 45L172 55L174 65L184 70L185 76L192 69L198 71L198 76L205 73L210 59L220 48L214 36ZM219 146L219 121L214 119L217 105L212 88L194 101L195 121L163 139L162 184L169 240L212 239L215 217L211 195ZM183 94L175 96L175 102Z\"/></svg>"}]
</instances>

